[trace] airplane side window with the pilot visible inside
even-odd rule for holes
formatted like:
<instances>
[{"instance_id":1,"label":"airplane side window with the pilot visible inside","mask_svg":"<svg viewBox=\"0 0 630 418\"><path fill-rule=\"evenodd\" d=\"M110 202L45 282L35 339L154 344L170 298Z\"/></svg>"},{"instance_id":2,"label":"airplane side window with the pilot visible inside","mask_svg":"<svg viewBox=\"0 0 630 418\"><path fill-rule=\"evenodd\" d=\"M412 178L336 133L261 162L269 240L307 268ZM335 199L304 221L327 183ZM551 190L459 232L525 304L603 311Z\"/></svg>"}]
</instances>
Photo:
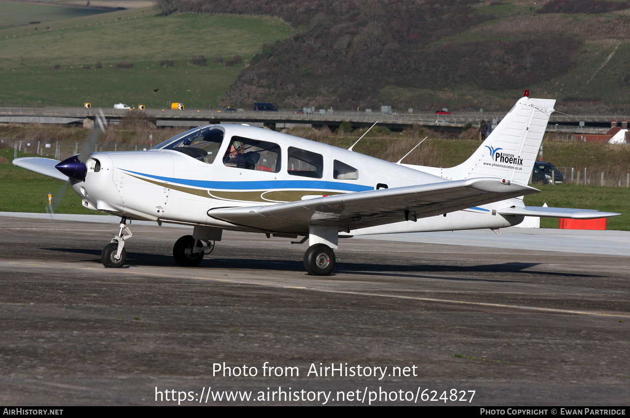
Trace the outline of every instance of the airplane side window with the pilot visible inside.
<instances>
[{"instance_id":1,"label":"airplane side window with the pilot visible inside","mask_svg":"<svg viewBox=\"0 0 630 418\"><path fill-rule=\"evenodd\" d=\"M227 167L277 173L280 171L280 146L272 142L232 136L223 163Z\"/></svg>"}]
</instances>

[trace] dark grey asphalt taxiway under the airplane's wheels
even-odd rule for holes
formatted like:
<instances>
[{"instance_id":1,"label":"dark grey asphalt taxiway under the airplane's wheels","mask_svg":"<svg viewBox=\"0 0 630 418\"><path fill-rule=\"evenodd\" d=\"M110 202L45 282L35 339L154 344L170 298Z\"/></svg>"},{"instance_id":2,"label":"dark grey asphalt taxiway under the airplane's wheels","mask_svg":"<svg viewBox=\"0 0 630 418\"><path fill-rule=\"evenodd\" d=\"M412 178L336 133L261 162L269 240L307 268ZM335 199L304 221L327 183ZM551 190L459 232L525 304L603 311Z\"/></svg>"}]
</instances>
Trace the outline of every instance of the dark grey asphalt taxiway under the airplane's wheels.
<instances>
[{"instance_id":1,"label":"dark grey asphalt taxiway under the airplane's wheels","mask_svg":"<svg viewBox=\"0 0 630 418\"><path fill-rule=\"evenodd\" d=\"M183 405L629 402L630 233L343 239L335 275L311 277L306 245L260 234L224 233L181 268L171 248L189 230L148 223L107 269L117 219L19 216L0 214L5 405L178 404L169 390ZM225 391L259 398L212 400Z\"/></svg>"}]
</instances>

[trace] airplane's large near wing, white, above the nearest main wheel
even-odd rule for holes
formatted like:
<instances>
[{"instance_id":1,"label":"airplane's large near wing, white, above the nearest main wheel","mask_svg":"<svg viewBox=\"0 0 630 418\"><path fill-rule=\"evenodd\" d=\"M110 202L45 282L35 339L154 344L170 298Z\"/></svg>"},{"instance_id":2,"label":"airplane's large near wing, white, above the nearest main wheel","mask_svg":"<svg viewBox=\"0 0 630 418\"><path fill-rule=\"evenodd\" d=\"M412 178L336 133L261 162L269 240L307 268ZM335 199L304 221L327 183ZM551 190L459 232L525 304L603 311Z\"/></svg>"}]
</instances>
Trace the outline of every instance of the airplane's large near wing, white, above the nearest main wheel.
<instances>
[{"instance_id":1,"label":"airplane's large near wing, white, above the nearest main wheel","mask_svg":"<svg viewBox=\"0 0 630 418\"><path fill-rule=\"evenodd\" d=\"M209 216L261 231L308 233L309 225L367 228L441 215L510 197L539 193L527 185L482 178L369 190L307 201L210 209Z\"/></svg>"}]
</instances>

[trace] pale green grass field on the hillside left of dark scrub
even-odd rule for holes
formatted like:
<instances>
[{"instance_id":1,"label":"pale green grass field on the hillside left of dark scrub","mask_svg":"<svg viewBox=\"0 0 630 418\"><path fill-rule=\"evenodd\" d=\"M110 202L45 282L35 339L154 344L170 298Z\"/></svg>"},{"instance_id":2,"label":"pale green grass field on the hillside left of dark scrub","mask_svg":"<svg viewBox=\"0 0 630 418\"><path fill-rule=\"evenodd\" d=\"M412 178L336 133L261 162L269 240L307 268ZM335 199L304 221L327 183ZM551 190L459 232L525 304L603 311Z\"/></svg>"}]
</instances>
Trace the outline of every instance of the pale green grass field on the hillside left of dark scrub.
<instances>
[{"instance_id":1,"label":"pale green grass field on the hillside left of dark scrub","mask_svg":"<svg viewBox=\"0 0 630 418\"><path fill-rule=\"evenodd\" d=\"M266 16L152 13L142 17L132 9L69 19L23 36L14 29L0 31L0 79L6 86L0 89L0 106L217 106L263 43L293 33L284 21ZM197 55L207 59L207 67L188 65ZM235 55L243 58L241 64L214 62ZM174 66L161 67L163 60ZM122 61L134 67L117 69Z\"/></svg>"}]
</instances>

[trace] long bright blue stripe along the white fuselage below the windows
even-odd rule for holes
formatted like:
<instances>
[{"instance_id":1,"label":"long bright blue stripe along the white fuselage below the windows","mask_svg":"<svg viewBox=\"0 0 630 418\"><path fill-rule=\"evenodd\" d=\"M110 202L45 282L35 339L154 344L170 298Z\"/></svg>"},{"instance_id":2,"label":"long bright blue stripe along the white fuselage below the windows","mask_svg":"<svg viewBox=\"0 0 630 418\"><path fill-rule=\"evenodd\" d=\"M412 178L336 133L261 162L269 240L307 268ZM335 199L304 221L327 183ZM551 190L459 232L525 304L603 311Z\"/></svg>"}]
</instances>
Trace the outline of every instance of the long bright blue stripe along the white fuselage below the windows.
<instances>
[{"instance_id":1,"label":"long bright blue stripe along the white fuselage below the windows","mask_svg":"<svg viewBox=\"0 0 630 418\"><path fill-rule=\"evenodd\" d=\"M374 187L349 184L341 182L327 182L324 180L265 180L253 182L215 182L209 180L175 179L173 177L162 177L139 173L131 170L124 170L128 173L142 175L150 179L161 180L163 182L199 187L201 189L214 190L272 190L272 189L313 189L313 190L341 190L344 192L364 192L374 190Z\"/></svg>"}]
</instances>

